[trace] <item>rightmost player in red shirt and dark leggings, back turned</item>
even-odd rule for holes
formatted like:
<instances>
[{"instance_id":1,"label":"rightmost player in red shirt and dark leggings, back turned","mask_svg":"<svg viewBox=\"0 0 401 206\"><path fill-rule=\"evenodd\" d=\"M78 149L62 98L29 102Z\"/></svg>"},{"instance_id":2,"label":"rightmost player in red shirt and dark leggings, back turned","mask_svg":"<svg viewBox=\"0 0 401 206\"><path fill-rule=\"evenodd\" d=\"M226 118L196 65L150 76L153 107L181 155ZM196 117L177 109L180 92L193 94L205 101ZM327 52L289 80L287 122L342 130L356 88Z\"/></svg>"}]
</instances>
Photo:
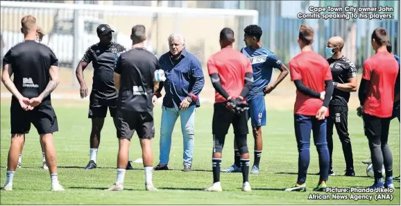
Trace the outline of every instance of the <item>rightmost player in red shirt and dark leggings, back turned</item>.
<instances>
[{"instance_id":1,"label":"rightmost player in red shirt and dark leggings, back turned","mask_svg":"<svg viewBox=\"0 0 401 206\"><path fill-rule=\"evenodd\" d=\"M368 138L370 157L372 157L375 183L373 189L388 187L393 184L393 154L390 151L389 128L393 116L394 87L399 66L394 55L387 51L389 38L384 28L376 28L372 33L371 43L375 55L364 62L364 72L359 85L359 103L357 112L364 119L364 131ZM382 166L386 171L383 182Z\"/></svg>"}]
</instances>

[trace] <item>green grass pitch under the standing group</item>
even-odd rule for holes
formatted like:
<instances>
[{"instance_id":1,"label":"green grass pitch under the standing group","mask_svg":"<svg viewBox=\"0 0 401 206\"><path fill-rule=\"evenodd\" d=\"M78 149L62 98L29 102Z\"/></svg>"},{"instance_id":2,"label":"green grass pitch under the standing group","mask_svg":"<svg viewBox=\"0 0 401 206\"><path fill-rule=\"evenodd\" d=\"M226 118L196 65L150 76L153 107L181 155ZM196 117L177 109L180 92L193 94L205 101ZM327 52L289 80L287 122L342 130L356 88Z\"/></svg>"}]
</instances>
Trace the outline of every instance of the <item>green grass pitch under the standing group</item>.
<instances>
[{"instance_id":1,"label":"green grass pitch under the standing group","mask_svg":"<svg viewBox=\"0 0 401 206\"><path fill-rule=\"evenodd\" d=\"M10 146L9 101L1 104L1 186L6 181L8 148ZM268 125L263 128L264 151L260 164L261 174L250 174L253 191L241 191L241 173L221 173L223 192L210 193L203 189L212 184L212 105L203 104L196 112L196 137L194 171L185 173L182 169L182 135L180 123L176 123L171 146L170 171L155 171L153 182L157 193L144 190L142 164L133 164L134 171L127 171L125 191L103 191L116 179L117 138L112 119L108 118L102 132L98 155L98 169L85 171L89 161L90 121L87 119L87 104L55 105L60 132L55 133L58 155L58 174L65 192L51 192L49 172L42 166L42 153L35 128L26 136L22 158L22 169L17 169L13 191L1 191L1 205L354 205L393 204L400 205L400 182L395 182L393 200L307 200L315 194L318 175L318 155L311 147L311 163L308 171L306 193L282 191L296 182L298 151L293 132L291 110L279 112L268 110ZM159 156L160 105L155 109L156 137L153 140L154 165ZM400 124L391 123L389 144L393 151L394 175L400 174ZM368 141L364 136L363 123L355 112L350 113L349 128L355 160L356 177L330 177L330 187L367 187L373 178L366 177L366 165L361 161L369 157ZM232 128L226 137L223 150L223 164L226 168L233 162ZM253 138L248 136L248 145L253 162ZM130 148L132 160L140 157L137 136L133 137ZM334 171L343 175L345 162L339 139L334 137ZM324 194L324 193L321 193Z\"/></svg>"}]
</instances>

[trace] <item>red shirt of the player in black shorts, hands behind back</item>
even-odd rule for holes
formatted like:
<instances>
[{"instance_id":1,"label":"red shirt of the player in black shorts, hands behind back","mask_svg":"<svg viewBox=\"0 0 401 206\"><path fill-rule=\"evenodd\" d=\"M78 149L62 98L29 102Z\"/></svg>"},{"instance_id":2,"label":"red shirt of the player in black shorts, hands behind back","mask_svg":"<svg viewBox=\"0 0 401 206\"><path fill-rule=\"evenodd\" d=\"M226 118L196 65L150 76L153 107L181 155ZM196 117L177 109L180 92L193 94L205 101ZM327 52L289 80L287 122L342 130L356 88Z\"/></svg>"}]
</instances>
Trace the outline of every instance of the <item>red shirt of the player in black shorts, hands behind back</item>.
<instances>
[{"instance_id":1,"label":"red shirt of the player in black shorts, hands behind back","mask_svg":"<svg viewBox=\"0 0 401 206\"><path fill-rule=\"evenodd\" d=\"M209 75L219 74L221 85L232 98L237 98L244 89L245 74L253 73L248 58L232 47L225 47L210 56L207 61L207 71L209 71ZM214 101L222 103L227 100L219 92L216 92Z\"/></svg>"}]
</instances>

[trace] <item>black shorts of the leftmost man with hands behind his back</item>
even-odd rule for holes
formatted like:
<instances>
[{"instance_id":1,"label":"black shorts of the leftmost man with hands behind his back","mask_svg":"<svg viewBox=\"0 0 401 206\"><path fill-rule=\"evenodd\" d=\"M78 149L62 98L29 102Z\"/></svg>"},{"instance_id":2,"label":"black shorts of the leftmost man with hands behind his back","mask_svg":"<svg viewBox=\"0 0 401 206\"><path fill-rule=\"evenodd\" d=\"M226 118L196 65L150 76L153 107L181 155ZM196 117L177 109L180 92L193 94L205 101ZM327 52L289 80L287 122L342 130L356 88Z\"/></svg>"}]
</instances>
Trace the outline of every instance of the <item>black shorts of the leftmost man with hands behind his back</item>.
<instances>
[{"instance_id":1,"label":"black shorts of the leftmost man with hands behind his back","mask_svg":"<svg viewBox=\"0 0 401 206\"><path fill-rule=\"evenodd\" d=\"M50 103L38 105L31 111L24 111L19 103L11 103L10 107L11 134L27 134L31 123L39 135L58 131L56 112Z\"/></svg>"}]
</instances>

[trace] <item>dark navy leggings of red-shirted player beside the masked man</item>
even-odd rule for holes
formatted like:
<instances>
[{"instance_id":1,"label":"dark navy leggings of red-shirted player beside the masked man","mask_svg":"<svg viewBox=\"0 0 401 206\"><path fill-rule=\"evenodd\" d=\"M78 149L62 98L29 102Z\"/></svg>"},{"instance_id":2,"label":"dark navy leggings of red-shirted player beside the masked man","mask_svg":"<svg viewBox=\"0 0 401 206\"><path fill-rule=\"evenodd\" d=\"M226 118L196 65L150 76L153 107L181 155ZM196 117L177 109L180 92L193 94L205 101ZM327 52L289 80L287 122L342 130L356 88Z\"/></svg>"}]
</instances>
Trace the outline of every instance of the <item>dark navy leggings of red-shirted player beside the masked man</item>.
<instances>
[{"instance_id":1,"label":"dark navy leggings of red-shirted player beside the masked man","mask_svg":"<svg viewBox=\"0 0 401 206\"><path fill-rule=\"evenodd\" d=\"M294 114L294 129L298 146L298 181L306 182L307 170L310 161L311 130L314 135L314 144L319 156L320 179L328 180L330 169L330 155L327 148L326 136L327 120L319 121L314 116Z\"/></svg>"}]
</instances>

